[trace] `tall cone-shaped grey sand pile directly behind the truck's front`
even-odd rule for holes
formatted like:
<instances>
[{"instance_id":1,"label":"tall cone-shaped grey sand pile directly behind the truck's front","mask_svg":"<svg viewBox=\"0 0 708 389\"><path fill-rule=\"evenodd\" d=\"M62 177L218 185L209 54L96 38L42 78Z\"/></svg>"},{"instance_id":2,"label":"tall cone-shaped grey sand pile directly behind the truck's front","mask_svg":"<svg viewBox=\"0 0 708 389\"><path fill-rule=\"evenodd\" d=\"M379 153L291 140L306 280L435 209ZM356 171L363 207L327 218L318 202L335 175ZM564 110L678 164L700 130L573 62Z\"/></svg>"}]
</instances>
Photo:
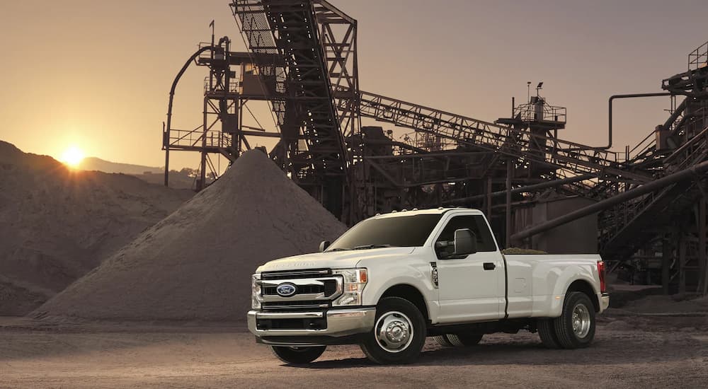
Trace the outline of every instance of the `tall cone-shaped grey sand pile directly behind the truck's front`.
<instances>
[{"instance_id":1,"label":"tall cone-shaped grey sand pile directly behind the truck's front","mask_svg":"<svg viewBox=\"0 0 708 389\"><path fill-rule=\"evenodd\" d=\"M35 311L105 320L245 320L251 274L346 227L261 151Z\"/></svg>"}]
</instances>

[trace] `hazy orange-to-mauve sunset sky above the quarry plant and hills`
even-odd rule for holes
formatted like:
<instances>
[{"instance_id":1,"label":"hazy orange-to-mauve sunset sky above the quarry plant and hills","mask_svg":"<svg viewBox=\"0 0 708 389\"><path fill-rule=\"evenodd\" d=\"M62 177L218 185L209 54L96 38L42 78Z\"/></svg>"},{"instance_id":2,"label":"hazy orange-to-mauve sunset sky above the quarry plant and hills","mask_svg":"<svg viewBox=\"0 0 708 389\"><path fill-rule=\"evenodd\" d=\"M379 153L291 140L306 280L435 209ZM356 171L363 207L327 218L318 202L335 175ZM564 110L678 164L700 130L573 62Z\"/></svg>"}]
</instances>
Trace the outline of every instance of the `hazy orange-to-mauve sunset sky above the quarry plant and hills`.
<instances>
[{"instance_id":1,"label":"hazy orange-to-mauve sunset sky above the quarry plant and hills","mask_svg":"<svg viewBox=\"0 0 708 389\"><path fill-rule=\"evenodd\" d=\"M360 86L493 121L544 81L568 108L564 139L605 144L607 98L661 91L708 40L705 0L331 0L359 26ZM0 139L61 158L70 147L162 166L171 81L200 41L245 50L229 0L3 1ZM178 88L175 127L201 122L204 68ZM615 145L635 144L668 115L668 98L617 103ZM259 120L272 127L267 112ZM270 123L270 124L268 124ZM384 127L386 127L384 125ZM196 168L196 154L172 166Z\"/></svg>"}]
</instances>

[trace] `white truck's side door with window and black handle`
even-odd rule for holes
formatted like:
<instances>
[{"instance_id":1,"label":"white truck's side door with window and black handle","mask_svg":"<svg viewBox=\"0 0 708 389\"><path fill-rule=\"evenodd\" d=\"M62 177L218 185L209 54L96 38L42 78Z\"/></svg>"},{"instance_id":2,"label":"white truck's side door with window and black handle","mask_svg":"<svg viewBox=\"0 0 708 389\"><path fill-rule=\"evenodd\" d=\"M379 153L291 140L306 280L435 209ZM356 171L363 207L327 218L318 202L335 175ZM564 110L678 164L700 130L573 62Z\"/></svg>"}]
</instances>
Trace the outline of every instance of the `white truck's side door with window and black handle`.
<instances>
[{"instance_id":1,"label":"white truck's side door with window and black handle","mask_svg":"<svg viewBox=\"0 0 708 389\"><path fill-rule=\"evenodd\" d=\"M454 257L455 231L472 230L477 252ZM440 323L497 320L504 315L504 262L484 216L452 216L435 239Z\"/></svg>"}]
</instances>

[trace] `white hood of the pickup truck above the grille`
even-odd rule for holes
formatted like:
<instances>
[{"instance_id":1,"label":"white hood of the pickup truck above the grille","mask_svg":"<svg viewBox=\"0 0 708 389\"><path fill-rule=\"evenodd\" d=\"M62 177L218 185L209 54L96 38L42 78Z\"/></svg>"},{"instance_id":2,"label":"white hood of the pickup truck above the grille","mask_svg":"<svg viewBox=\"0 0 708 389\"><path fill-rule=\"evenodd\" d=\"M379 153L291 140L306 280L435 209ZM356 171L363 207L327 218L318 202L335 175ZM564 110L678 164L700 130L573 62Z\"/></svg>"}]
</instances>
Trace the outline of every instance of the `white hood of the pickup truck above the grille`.
<instances>
[{"instance_id":1,"label":"white hood of the pickup truck above the grille","mask_svg":"<svg viewBox=\"0 0 708 389\"><path fill-rule=\"evenodd\" d=\"M273 272L277 270L307 270L307 269L346 269L356 267L360 260L386 259L409 255L415 248L372 248L368 250L347 250L335 252L315 252L313 254L295 255L280 260L266 262L258 267L256 272Z\"/></svg>"}]
</instances>

